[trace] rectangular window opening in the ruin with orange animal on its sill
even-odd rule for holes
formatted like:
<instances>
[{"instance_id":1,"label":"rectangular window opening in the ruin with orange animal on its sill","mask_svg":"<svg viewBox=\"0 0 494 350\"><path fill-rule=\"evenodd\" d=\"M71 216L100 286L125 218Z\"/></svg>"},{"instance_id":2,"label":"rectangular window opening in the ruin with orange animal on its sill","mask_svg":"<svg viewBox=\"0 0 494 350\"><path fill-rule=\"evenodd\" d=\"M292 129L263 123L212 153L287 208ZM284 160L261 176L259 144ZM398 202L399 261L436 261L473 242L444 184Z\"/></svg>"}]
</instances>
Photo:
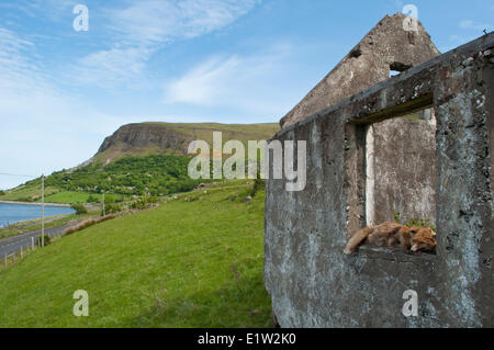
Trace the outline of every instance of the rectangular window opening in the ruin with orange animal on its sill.
<instances>
[{"instance_id":1,"label":"rectangular window opening in the ruin with orange animal on its sill","mask_svg":"<svg viewBox=\"0 0 494 350\"><path fill-rule=\"evenodd\" d=\"M433 109L364 126L364 225L359 245L434 252L436 245L436 116Z\"/></svg>"}]
</instances>

